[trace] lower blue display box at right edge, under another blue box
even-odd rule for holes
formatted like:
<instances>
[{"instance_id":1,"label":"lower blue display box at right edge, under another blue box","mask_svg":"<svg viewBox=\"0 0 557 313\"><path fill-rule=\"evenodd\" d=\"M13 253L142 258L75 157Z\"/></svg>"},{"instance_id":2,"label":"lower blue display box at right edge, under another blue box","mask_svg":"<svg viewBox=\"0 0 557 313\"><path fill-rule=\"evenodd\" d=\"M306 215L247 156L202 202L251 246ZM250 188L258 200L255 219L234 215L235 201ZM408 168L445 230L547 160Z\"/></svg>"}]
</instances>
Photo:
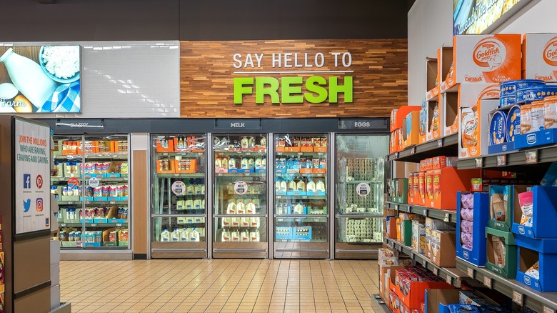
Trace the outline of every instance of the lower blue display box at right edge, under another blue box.
<instances>
[{"instance_id":1,"label":"lower blue display box at right edge, under another blue box","mask_svg":"<svg viewBox=\"0 0 557 313\"><path fill-rule=\"evenodd\" d=\"M533 239L516 235L516 281L539 292L557 292L557 239ZM539 276L526 274L538 263Z\"/></svg>"}]
</instances>

